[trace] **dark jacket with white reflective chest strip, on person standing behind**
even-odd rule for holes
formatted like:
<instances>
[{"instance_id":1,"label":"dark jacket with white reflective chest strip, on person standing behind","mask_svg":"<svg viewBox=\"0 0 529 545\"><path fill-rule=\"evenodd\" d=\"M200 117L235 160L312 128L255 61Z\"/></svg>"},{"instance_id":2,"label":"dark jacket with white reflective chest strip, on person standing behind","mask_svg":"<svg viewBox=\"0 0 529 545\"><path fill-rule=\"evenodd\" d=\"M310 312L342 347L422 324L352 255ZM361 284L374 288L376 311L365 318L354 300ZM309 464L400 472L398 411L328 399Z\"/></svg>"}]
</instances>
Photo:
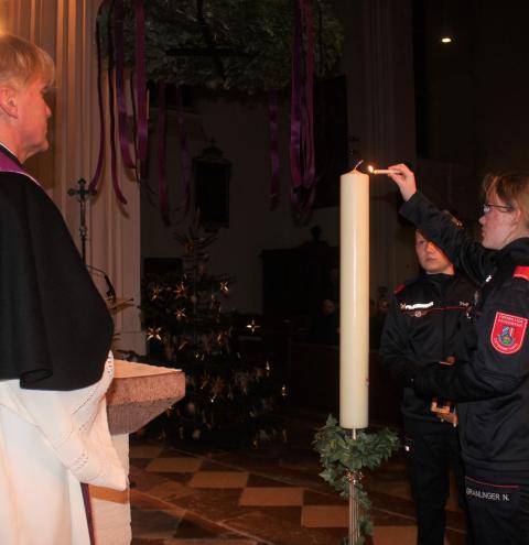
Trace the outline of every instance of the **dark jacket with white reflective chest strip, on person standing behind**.
<instances>
[{"instance_id":1,"label":"dark jacket with white reflective chest strip, on person standing behind","mask_svg":"<svg viewBox=\"0 0 529 545\"><path fill-rule=\"evenodd\" d=\"M423 273L396 290L384 325L380 361L404 384L404 416L441 425L430 411L431 399L418 396L406 379L429 363L466 357L464 341L473 335L469 310L475 292L458 273Z\"/></svg>"}]
</instances>

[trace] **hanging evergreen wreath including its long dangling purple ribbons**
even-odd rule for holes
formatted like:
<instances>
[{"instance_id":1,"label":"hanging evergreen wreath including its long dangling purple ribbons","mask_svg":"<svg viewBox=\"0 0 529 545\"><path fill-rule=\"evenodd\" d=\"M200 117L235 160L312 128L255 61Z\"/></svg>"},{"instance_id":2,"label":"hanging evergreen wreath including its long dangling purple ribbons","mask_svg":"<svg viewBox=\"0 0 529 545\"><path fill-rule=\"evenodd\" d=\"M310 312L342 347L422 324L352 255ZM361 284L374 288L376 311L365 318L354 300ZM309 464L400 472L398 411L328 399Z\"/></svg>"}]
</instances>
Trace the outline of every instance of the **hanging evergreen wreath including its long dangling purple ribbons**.
<instances>
[{"instance_id":1,"label":"hanging evergreen wreath including its long dangling purple ribbons","mask_svg":"<svg viewBox=\"0 0 529 545\"><path fill-rule=\"evenodd\" d=\"M301 214L311 208L316 185L313 84L315 77L324 76L334 66L343 42L341 24L327 0L102 0L96 33L101 144L89 186L91 192L97 188L102 166L101 59L107 58L109 97L116 97L118 110L116 116L114 99L110 99L111 176L122 204L127 201L117 176L115 127L117 123L123 163L138 173L139 164L147 157L145 87L151 80L158 81L159 142L164 141L165 134L166 84L177 89L181 127L184 85L249 95L268 91L272 207L279 195L277 91L290 85L291 200ZM133 134L127 121L127 66L132 68L131 85L136 86ZM181 135L185 212L191 195L186 149L185 135ZM164 144L159 151L159 194L162 217L169 222Z\"/></svg>"}]
</instances>

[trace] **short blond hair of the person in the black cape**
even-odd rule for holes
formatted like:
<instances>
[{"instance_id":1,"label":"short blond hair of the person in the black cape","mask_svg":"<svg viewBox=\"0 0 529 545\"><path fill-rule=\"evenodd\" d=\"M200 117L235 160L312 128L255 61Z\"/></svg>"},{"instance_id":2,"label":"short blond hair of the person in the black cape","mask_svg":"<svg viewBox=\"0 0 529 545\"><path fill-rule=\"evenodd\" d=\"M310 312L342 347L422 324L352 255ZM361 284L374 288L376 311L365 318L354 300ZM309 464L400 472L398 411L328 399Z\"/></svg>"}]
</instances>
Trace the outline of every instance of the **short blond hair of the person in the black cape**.
<instances>
[{"instance_id":1,"label":"short blond hair of the person in the black cape","mask_svg":"<svg viewBox=\"0 0 529 545\"><path fill-rule=\"evenodd\" d=\"M46 86L55 78L52 57L36 45L12 34L0 35L0 84L25 88L41 77Z\"/></svg>"}]
</instances>

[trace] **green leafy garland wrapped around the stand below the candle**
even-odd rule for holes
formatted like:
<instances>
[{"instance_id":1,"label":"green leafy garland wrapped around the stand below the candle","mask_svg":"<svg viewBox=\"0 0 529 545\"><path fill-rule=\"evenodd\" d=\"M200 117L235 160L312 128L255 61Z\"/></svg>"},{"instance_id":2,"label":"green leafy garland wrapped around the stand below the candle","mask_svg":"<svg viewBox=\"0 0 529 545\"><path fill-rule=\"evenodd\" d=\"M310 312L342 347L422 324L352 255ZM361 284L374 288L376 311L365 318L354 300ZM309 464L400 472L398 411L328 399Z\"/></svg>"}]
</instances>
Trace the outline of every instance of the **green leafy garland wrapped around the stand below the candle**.
<instances>
[{"instance_id":1,"label":"green leafy garland wrapped around the stand below the candle","mask_svg":"<svg viewBox=\"0 0 529 545\"><path fill-rule=\"evenodd\" d=\"M343 498L349 498L350 483L356 487L361 513L359 538L348 545L364 545L365 536L371 535L373 523L369 514L371 502L361 486L361 470L376 469L386 461L400 446L398 435L388 428L370 434L360 430L354 439L350 429L341 427L336 418L330 415L325 425L316 432L313 445L324 468L320 477Z\"/></svg>"}]
</instances>

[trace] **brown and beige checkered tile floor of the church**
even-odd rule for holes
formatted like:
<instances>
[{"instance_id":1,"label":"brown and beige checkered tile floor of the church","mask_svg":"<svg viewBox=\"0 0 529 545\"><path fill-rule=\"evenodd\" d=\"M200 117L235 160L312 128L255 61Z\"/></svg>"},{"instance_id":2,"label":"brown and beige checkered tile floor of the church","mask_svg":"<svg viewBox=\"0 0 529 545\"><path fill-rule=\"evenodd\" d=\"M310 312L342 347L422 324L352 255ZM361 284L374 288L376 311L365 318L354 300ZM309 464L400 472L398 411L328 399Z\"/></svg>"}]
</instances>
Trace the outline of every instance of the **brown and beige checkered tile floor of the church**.
<instances>
[{"instance_id":1,"label":"brown and beige checkered tile floor of the church","mask_svg":"<svg viewBox=\"0 0 529 545\"><path fill-rule=\"evenodd\" d=\"M347 535L348 502L319 472L311 442L323 425L288 421L289 440L258 449L164 445L131 437L133 545L332 545ZM401 455L366 475L375 545L415 543ZM464 544L463 515L447 505L446 543Z\"/></svg>"}]
</instances>

